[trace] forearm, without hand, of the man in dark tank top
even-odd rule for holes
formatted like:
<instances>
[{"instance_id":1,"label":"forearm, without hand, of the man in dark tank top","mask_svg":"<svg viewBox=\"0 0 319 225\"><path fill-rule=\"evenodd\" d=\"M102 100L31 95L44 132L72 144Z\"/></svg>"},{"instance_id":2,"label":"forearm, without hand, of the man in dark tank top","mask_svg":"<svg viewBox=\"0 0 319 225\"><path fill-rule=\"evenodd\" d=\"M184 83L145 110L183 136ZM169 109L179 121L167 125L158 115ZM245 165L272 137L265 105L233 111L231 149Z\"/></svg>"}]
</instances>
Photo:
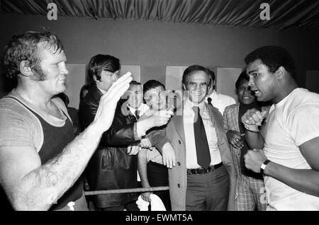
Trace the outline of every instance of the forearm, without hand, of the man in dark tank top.
<instances>
[{"instance_id":1,"label":"forearm, without hand, of the man in dark tank top","mask_svg":"<svg viewBox=\"0 0 319 225\"><path fill-rule=\"evenodd\" d=\"M99 144L102 131L94 124L68 144L61 154L28 173L17 187L13 207L47 210L75 183Z\"/></svg>"}]
</instances>

